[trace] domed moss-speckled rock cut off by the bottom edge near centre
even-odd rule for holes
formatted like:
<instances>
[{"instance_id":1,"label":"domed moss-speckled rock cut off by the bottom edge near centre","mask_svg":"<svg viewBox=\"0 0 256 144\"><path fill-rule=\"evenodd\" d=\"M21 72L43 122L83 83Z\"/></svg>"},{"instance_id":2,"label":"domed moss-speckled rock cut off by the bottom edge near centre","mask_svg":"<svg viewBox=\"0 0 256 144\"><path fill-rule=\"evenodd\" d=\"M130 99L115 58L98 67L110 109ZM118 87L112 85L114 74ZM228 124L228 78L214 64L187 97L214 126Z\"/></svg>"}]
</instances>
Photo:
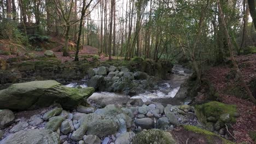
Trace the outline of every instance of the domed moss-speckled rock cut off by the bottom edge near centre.
<instances>
[{"instance_id":1,"label":"domed moss-speckled rock cut off by the bottom edge near centre","mask_svg":"<svg viewBox=\"0 0 256 144\"><path fill-rule=\"evenodd\" d=\"M168 143L168 144L177 144L173 139L173 136L163 130L159 129L150 129L144 130L141 133L138 133L133 137L133 144L143 144L143 143Z\"/></svg>"}]
</instances>

